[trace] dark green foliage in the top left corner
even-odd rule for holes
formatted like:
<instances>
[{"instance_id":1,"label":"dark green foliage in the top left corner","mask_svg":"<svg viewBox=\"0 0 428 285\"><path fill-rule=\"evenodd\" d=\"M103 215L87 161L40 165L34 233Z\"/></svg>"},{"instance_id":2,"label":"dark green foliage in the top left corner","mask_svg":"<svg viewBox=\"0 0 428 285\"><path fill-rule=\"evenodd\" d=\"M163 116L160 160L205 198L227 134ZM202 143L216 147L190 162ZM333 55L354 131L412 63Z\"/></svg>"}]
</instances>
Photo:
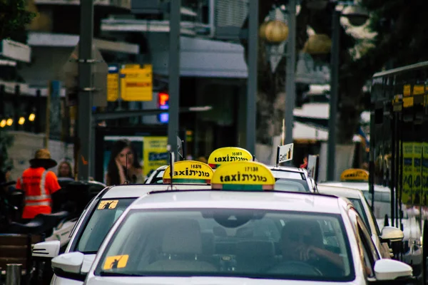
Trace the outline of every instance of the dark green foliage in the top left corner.
<instances>
[{"instance_id":1,"label":"dark green foliage in the top left corner","mask_svg":"<svg viewBox=\"0 0 428 285\"><path fill-rule=\"evenodd\" d=\"M0 40L26 41L25 26L36 14L26 11L27 0L0 0Z\"/></svg>"}]
</instances>

